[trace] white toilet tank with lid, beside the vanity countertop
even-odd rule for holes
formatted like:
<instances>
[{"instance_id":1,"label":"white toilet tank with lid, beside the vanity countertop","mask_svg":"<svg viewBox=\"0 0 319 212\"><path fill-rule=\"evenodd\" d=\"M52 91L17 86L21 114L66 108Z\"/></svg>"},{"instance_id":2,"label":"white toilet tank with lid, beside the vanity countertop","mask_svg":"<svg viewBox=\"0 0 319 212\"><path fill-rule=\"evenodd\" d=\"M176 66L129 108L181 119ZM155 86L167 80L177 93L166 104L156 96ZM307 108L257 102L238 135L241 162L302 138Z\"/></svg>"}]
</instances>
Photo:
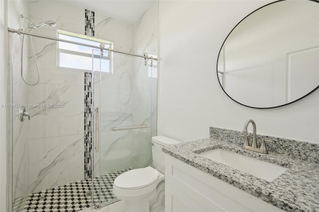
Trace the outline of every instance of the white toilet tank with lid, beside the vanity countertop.
<instances>
[{"instance_id":1,"label":"white toilet tank with lid, beside the vanity countertop","mask_svg":"<svg viewBox=\"0 0 319 212\"><path fill-rule=\"evenodd\" d=\"M152 137L152 157L154 168L161 173L165 173L165 153L161 151L164 146L180 143L180 141L165 137L154 136Z\"/></svg>"}]
</instances>

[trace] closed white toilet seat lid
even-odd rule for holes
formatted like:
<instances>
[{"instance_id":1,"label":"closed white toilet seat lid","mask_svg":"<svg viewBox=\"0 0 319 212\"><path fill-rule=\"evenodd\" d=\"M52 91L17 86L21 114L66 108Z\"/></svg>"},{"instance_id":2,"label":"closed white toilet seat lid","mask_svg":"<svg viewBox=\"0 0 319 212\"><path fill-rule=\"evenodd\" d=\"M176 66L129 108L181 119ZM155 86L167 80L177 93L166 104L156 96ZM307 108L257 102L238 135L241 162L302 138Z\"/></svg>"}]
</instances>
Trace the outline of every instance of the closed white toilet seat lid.
<instances>
[{"instance_id":1,"label":"closed white toilet seat lid","mask_svg":"<svg viewBox=\"0 0 319 212\"><path fill-rule=\"evenodd\" d=\"M121 189L139 189L154 183L159 176L159 172L151 166L141 169L133 169L119 175L114 185Z\"/></svg>"}]
</instances>

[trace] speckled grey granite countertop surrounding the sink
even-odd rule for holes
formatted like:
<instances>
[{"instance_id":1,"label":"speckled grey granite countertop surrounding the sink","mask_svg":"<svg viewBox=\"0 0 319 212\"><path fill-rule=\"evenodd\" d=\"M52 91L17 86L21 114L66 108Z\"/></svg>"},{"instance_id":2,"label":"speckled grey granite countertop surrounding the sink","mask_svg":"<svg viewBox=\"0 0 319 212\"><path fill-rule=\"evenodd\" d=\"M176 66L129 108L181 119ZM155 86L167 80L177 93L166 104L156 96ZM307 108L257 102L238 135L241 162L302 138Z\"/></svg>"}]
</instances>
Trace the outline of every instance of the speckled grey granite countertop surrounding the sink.
<instances>
[{"instance_id":1,"label":"speckled grey granite countertop surrounding the sink","mask_svg":"<svg viewBox=\"0 0 319 212\"><path fill-rule=\"evenodd\" d=\"M198 155L217 148L278 164L288 170L268 182ZM237 143L214 138L180 143L164 147L162 151L282 210L319 211L319 163L285 153L257 153Z\"/></svg>"}]
</instances>

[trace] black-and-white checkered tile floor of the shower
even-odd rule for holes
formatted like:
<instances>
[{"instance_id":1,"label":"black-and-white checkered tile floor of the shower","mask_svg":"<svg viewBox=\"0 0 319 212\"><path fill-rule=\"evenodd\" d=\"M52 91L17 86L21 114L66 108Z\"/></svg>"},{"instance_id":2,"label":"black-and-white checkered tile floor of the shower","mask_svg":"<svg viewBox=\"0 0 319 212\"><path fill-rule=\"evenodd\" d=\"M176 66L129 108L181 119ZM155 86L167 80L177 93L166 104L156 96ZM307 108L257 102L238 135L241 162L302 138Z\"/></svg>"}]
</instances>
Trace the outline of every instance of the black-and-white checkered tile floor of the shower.
<instances>
[{"instance_id":1,"label":"black-and-white checkered tile floor of the shower","mask_svg":"<svg viewBox=\"0 0 319 212\"><path fill-rule=\"evenodd\" d=\"M117 176L130 169L103 175L95 178L93 201L97 204L101 195L101 203L113 200L113 183ZM101 182L101 194L100 191ZM48 189L28 196L23 212L78 212L91 207L91 180L83 180L53 189ZM18 200L15 200L18 202ZM21 210L14 210L21 212Z\"/></svg>"}]
</instances>

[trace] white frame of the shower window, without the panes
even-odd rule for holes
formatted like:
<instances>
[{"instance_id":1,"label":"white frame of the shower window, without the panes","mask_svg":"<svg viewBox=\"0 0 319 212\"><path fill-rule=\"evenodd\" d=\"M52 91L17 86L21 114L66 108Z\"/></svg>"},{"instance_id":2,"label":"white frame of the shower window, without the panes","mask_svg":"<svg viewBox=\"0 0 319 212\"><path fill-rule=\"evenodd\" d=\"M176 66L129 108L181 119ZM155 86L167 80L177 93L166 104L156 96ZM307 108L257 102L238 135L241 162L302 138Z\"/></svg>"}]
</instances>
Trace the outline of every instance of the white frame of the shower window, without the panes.
<instances>
[{"instance_id":1,"label":"white frame of the shower window, without the panes","mask_svg":"<svg viewBox=\"0 0 319 212\"><path fill-rule=\"evenodd\" d=\"M63 34L63 35L67 35L67 36L75 37L75 38L80 38L80 39L85 39L85 40L91 40L91 41L99 42L99 43L105 43L105 44L109 45L109 47L111 47L111 49L113 49L113 42L112 41L102 40L102 39L95 38L95 37L90 37L90 36L86 36L86 35L81 35L81 34L77 34L77 33L73 33L73 32L64 31L64 30L61 30L61 29L57 29L57 37L59 37L59 34ZM59 48L59 42L60 41L57 42L57 68L58 69L62 69L62 70L79 70L79 71L85 71L85 72L92 72L92 69L91 70L87 70L87 69L61 67L60 66L60 53L66 53L66 54L72 54L72 55L78 55L78 56L84 56L84 57L92 58L93 51L92 51L91 54L89 54L89 53L84 53L84 52L76 52L76 51L72 51L72 50L60 49ZM96 49L92 48L92 50L100 50L100 46L96 46ZM104 57L106 58L106 60L109 60L107 50L105 50L105 51L106 52L104 52ZM94 58L98 58L99 59L100 55L94 55ZM111 59L109 60L109 72L101 71L101 73L113 74L113 52L111 52Z\"/></svg>"}]
</instances>

